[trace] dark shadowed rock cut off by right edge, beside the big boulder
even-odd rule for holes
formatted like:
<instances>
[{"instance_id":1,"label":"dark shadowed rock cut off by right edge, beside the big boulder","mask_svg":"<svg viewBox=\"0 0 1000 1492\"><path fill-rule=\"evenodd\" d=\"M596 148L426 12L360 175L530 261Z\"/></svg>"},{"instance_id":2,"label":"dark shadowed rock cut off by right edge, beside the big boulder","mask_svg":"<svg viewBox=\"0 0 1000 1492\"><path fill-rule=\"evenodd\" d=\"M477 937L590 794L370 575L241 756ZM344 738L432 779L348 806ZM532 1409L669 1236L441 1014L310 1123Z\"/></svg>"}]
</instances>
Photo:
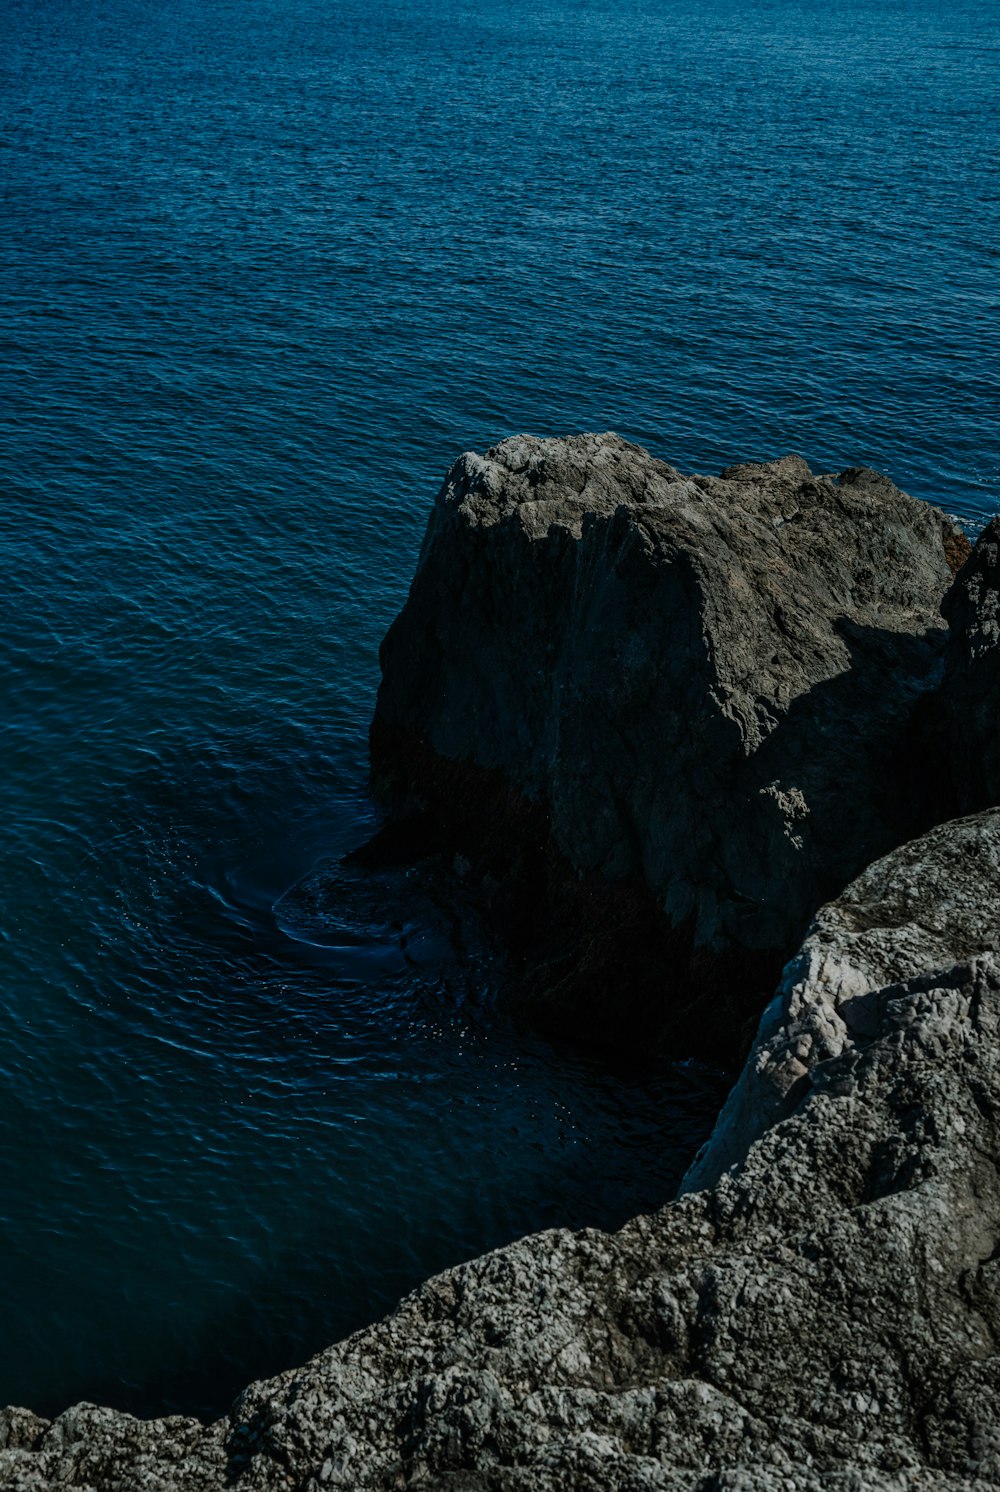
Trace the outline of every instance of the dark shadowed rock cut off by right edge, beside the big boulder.
<instances>
[{"instance_id":1,"label":"dark shadowed rock cut off by right edge, beside the big boulder","mask_svg":"<svg viewBox=\"0 0 1000 1492\"><path fill-rule=\"evenodd\" d=\"M985 807L1000 803L1000 518L984 528L942 610L951 630L937 753L955 806Z\"/></svg>"}]
</instances>

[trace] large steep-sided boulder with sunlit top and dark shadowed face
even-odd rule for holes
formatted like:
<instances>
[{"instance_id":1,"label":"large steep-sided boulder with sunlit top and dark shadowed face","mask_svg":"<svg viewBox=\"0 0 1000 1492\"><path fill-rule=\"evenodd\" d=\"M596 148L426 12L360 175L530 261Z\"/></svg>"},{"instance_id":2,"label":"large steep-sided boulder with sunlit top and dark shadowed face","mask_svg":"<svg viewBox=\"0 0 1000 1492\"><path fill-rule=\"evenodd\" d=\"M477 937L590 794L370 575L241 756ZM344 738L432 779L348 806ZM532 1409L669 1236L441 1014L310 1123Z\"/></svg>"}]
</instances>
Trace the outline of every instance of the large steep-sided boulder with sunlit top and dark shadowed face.
<instances>
[{"instance_id":1,"label":"large steep-sided boulder with sunlit top and dark shadowed face","mask_svg":"<svg viewBox=\"0 0 1000 1492\"><path fill-rule=\"evenodd\" d=\"M642 989L691 1050L694 997L739 968L760 1010L815 909L916 827L907 725L966 551L885 477L797 457L685 477L616 436L466 455L384 643L373 782L530 886L512 921L576 897L549 983L578 1015L634 1028Z\"/></svg>"}]
</instances>

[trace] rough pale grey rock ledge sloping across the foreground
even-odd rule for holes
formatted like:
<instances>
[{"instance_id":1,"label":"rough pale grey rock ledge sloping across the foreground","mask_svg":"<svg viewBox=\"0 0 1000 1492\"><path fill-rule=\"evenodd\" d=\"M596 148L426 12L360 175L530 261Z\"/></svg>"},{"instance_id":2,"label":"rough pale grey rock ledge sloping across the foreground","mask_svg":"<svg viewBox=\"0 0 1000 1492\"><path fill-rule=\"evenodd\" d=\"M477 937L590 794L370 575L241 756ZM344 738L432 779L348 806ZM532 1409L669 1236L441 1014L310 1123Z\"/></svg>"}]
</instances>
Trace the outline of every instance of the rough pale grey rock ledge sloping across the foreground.
<instances>
[{"instance_id":1,"label":"rough pale grey rock ledge sloping across the foreground","mask_svg":"<svg viewBox=\"0 0 1000 1492\"><path fill-rule=\"evenodd\" d=\"M794 1110L713 1189L451 1270L209 1428L6 1411L0 1485L996 1488L999 867L984 815L824 910L779 1029L812 1003L834 1055L801 1052Z\"/></svg>"}]
</instances>

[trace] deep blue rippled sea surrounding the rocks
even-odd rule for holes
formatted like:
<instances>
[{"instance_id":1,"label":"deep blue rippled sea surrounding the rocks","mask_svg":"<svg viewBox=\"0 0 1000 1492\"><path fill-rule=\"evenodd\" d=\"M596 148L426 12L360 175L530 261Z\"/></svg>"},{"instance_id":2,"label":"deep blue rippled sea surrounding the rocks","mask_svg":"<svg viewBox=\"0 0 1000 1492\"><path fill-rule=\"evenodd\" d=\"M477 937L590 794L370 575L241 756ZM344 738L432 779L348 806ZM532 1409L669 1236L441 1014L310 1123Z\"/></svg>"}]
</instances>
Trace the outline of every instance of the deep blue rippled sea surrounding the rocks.
<instances>
[{"instance_id":1,"label":"deep blue rippled sea surrounding the rocks","mask_svg":"<svg viewBox=\"0 0 1000 1492\"><path fill-rule=\"evenodd\" d=\"M222 1410L663 1201L718 1074L513 1028L376 824L518 431L1000 509L996 0L1 0L0 1402Z\"/></svg>"}]
</instances>

